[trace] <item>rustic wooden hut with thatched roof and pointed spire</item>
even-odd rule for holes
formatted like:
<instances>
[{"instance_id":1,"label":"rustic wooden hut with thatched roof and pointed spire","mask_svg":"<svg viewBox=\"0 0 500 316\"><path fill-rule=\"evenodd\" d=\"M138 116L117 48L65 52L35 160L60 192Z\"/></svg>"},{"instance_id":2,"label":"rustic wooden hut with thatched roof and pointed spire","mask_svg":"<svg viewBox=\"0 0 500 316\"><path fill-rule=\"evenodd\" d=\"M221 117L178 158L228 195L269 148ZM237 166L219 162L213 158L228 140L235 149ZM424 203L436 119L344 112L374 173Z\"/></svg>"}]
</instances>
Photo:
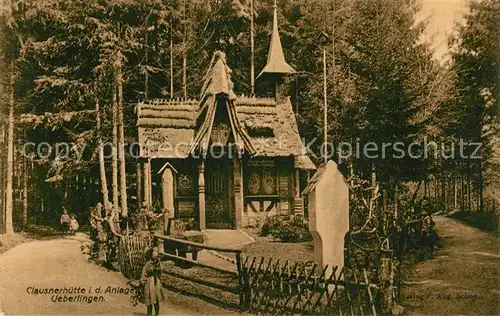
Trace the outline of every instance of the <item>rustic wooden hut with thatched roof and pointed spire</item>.
<instances>
[{"instance_id":1,"label":"rustic wooden hut with thatched roof and pointed spire","mask_svg":"<svg viewBox=\"0 0 500 316\"><path fill-rule=\"evenodd\" d=\"M291 72L275 9L261 74L276 83ZM137 126L144 201L151 205L153 196L163 195L170 217L195 218L200 229L239 229L263 215L303 213L300 177L315 166L290 98L237 96L224 53L214 54L198 100L141 102ZM152 185L160 182L155 177L161 189Z\"/></svg>"}]
</instances>

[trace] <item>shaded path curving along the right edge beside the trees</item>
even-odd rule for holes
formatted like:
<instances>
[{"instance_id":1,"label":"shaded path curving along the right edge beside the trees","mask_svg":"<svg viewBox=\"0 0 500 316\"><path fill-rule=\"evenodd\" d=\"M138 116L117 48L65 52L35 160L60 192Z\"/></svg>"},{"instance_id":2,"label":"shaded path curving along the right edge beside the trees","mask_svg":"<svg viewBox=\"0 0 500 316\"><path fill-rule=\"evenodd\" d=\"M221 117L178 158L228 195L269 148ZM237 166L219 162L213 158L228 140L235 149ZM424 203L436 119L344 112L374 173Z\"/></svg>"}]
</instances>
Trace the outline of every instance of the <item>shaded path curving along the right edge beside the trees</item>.
<instances>
[{"instance_id":1,"label":"shaded path curving along the right edge beside the trees","mask_svg":"<svg viewBox=\"0 0 500 316\"><path fill-rule=\"evenodd\" d=\"M417 265L402 289L412 315L499 315L500 238L437 216L443 247Z\"/></svg>"}]
</instances>

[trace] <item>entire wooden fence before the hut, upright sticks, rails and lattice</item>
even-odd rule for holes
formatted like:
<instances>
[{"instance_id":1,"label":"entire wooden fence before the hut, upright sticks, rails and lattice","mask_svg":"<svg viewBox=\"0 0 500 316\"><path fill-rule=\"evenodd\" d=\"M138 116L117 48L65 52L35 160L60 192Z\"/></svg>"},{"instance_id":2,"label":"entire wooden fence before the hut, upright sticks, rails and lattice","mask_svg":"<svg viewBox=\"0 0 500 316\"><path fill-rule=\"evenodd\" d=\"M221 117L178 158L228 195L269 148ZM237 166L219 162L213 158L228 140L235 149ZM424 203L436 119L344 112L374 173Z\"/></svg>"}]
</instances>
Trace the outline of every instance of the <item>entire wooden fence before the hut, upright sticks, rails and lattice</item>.
<instances>
[{"instance_id":1,"label":"entire wooden fence before the hut, upright sticks, rails and lattice","mask_svg":"<svg viewBox=\"0 0 500 316\"><path fill-rule=\"evenodd\" d=\"M154 236L174 240L166 236ZM203 244L175 239L191 246L211 248ZM121 273L137 280L145 264L144 250L153 244L151 236L123 236L118 245L118 263ZM233 250L231 250L233 251ZM240 258L240 250L236 251ZM239 295L240 308L266 315L376 315L380 313L383 293L376 285L373 272L366 269L328 266L323 269L304 262L281 263L274 258L246 257L237 260L237 272L223 271L177 255L162 253L162 258L188 261L195 266L214 269L220 273L235 274L238 286L223 287L198 277L173 274L191 282ZM243 262L242 262L243 261ZM163 271L167 273L167 271ZM171 274L171 273L167 273ZM375 282L374 282L375 281Z\"/></svg>"}]
</instances>

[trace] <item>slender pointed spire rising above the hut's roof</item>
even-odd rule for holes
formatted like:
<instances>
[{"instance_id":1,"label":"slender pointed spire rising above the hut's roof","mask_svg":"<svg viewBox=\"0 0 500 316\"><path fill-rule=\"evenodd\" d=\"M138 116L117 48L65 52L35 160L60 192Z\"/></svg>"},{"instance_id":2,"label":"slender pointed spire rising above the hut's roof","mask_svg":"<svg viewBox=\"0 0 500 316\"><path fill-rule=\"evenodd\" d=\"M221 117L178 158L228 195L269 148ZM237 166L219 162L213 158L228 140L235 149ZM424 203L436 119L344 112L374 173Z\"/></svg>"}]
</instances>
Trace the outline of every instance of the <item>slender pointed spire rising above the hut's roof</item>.
<instances>
[{"instance_id":1,"label":"slender pointed spire rising above the hut's roof","mask_svg":"<svg viewBox=\"0 0 500 316\"><path fill-rule=\"evenodd\" d=\"M278 6L274 0L274 13L273 13L273 32L271 34L271 43L269 44L269 52L267 55L267 64L262 69L259 78L262 74L290 74L295 73L295 70L285 61L283 54L283 47L281 46L280 34L278 32Z\"/></svg>"}]
</instances>

